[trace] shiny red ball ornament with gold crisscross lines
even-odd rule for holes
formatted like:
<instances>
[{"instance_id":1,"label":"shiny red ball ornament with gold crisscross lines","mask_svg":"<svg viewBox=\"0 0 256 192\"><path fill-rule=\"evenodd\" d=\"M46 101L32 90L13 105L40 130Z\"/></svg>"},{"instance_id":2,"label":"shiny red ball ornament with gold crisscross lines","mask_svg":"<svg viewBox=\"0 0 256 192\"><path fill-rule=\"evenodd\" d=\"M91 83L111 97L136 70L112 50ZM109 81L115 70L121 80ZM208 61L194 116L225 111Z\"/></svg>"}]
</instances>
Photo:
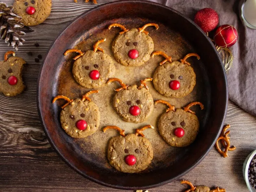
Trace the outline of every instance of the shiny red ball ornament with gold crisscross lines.
<instances>
[{"instance_id":1,"label":"shiny red ball ornament with gold crisscross lines","mask_svg":"<svg viewBox=\"0 0 256 192\"><path fill-rule=\"evenodd\" d=\"M237 30L232 25L221 25L215 31L213 39L220 48L231 47L236 43Z\"/></svg>"}]
</instances>

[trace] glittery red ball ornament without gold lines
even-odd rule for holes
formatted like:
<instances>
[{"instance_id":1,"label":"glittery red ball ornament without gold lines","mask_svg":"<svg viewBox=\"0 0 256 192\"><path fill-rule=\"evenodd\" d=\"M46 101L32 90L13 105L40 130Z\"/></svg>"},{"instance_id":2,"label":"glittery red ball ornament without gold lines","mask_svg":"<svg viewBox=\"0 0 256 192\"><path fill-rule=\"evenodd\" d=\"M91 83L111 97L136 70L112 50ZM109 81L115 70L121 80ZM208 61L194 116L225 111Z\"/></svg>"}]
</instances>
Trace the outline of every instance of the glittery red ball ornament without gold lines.
<instances>
[{"instance_id":1,"label":"glittery red ball ornament without gold lines","mask_svg":"<svg viewBox=\"0 0 256 192\"><path fill-rule=\"evenodd\" d=\"M219 15L214 9L204 8L196 13L194 22L207 33L218 25Z\"/></svg>"}]
</instances>

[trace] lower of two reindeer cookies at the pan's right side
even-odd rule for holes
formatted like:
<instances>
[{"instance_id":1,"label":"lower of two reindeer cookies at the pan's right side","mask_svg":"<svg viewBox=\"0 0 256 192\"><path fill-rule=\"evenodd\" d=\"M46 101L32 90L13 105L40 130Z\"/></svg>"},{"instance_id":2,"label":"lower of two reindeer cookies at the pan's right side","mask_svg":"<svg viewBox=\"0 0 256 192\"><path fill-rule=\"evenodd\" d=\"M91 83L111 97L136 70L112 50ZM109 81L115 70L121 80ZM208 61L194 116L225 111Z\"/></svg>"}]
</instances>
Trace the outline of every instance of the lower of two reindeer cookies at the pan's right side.
<instances>
[{"instance_id":1,"label":"lower of two reindeer cookies at the pan's right side","mask_svg":"<svg viewBox=\"0 0 256 192\"><path fill-rule=\"evenodd\" d=\"M157 100L155 104L157 103L164 103L169 107L158 121L158 129L165 142L173 147L186 147L193 143L199 131L199 120L190 107L198 104L204 109L204 105L193 102L184 107L184 110L175 110L167 101Z\"/></svg>"}]
</instances>

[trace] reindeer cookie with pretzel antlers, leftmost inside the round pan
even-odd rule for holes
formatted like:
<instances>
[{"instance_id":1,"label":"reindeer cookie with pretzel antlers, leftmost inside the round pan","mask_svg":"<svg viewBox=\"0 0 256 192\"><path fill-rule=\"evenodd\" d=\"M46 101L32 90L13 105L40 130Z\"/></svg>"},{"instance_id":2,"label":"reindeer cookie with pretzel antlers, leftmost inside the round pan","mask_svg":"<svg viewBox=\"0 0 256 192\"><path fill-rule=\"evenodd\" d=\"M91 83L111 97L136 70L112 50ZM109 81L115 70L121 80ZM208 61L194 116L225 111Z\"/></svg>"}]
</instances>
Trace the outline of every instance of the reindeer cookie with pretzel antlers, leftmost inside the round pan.
<instances>
[{"instance_id":1,"label":"reindeer cookie with pretzel antlers, leftmost inside the round pan","mask_svg":"<svg viewBox=\"0 0 256 192\"><path fill-rule=\"evenodd\" d=\"M69 99L59 95L52 101L62 98L68 103L62 106L60 112L60 123L65 132L75 138L84 138L96 132L100 125L100 111L97 105L88 97L99 90L92 90L83 95L82 99Z\"/></svg>"}]
</instances>

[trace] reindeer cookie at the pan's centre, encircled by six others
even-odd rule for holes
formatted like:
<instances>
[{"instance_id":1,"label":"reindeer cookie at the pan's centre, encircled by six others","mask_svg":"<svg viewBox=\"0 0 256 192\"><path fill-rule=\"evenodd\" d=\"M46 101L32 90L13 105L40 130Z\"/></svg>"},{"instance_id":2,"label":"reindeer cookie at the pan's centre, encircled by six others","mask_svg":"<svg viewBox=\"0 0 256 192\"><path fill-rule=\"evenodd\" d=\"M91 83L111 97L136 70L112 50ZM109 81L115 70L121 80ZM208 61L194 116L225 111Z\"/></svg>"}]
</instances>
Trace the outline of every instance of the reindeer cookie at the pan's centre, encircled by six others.
<instances>
[{"instance_id":1,"label":"reindeer cookie at the pan's centre, encircled by six others","mask_svg":"<svg viewBox=\"0 0 256 192\"><path fill-rule=\"evenodd\" d=\"M154 109L153 97L148 91L147 81L152 81L152 78L141 80L141 85L128 86L120 79L109 79L108 83L117 81L122 86L115 89L117 91L113 99L113 105L117 113L124 121L141 123L145 121Z\"/></svg>"}]
</instances>

